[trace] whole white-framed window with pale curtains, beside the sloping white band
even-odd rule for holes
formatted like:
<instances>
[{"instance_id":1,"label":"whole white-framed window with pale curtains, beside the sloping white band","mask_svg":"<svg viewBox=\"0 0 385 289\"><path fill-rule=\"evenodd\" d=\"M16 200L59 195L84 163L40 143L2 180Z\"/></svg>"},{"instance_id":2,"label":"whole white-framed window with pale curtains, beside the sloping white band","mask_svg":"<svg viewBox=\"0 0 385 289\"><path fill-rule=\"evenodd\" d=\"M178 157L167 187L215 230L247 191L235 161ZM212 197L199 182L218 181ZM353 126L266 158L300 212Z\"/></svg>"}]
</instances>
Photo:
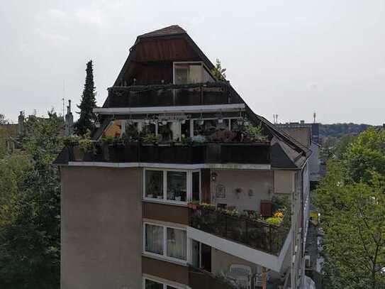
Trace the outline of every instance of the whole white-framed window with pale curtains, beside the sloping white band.
<instances>
[{"instance_id":1,"label":"whole white-framed window with pale curtains, beside the sloping white band","mask_svg":"<svg viewBox=\"0 0 385 289\"><path fill-rule=\"evenodd\" d=\"M186 230L145 223L144 231L145 253L178 261L187 260Z\"/></svg>"}]
</instances>

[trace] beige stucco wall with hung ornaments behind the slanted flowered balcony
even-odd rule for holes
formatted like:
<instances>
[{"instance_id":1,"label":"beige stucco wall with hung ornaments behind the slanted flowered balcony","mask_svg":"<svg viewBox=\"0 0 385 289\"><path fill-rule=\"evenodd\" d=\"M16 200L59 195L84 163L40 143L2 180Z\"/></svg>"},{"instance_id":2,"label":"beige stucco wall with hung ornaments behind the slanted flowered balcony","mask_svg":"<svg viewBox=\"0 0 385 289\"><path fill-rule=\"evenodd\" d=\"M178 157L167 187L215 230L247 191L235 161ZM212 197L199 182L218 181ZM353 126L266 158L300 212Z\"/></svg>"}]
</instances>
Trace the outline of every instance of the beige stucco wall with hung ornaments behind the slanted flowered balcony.
<instances>
[{"instance_id":1,"label":"beige stucco wall with hung ornaments behind the slanted flowered balcony","mask_svg":"<svg viewBox=\"0 0 385 289\"><path fill-rule=\"evenodd\" d=\"M260 201L272 197L273 175L267 170L212 170L217 173L216 181L211 180L211 201L213 204L223 203L244 209L260 211ZM225 187L225 197L217 197L218 185ZM237 196L235 189L241 187ZM252 190L252 196L248 195Z\"/></svg>"}]
</instances>

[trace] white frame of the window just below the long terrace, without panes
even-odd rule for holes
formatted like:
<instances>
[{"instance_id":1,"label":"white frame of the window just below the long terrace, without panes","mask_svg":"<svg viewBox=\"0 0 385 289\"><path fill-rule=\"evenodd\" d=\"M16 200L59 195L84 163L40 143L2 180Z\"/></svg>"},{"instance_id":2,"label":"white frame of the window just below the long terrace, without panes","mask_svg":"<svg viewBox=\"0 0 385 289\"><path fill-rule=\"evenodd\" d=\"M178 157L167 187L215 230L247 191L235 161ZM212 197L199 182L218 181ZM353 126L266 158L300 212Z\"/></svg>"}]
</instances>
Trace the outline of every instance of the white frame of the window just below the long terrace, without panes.
<instances>
[{"instance_id":1,"label":"white frame of the window just below the long terrace, without panes","mask_svg":"<svg viewBox=\"0 0 385 289\"><path fill-rule=\"evenodd\" d=\"M160 170L163 172L163 198L157 199L146 196L146 171L147 170ZM186 173L186 202L167 200L167 172L183 172ZM179 169L164 169L164 168L144 168L143 169L143 200L151 202L164 202L174 205L187 205L192 200L192 173L199 173L199 202L202 200L202 188L201 170L179 170Z\"/></svg>"}]
</instances>

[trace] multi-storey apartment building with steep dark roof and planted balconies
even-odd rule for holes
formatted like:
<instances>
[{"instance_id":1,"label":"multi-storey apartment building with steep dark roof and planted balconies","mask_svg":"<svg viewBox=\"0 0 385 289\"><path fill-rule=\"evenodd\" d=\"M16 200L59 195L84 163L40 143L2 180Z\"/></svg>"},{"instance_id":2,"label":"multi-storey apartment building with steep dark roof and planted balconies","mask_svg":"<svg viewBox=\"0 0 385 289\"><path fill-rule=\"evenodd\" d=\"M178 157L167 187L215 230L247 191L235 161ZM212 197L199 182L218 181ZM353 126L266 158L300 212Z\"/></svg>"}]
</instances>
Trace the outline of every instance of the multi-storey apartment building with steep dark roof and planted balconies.
<instances>
[{"instance_id":1,"label":"multi-storey apartment building with steep dark roof and planted balconies","mask_svg":"<svg viewBox=\"0 0 385 289\"><path fill-rule=\"evenodd\" d=\"M179 26L138 36L95 148L55 160L62 289L302 288L311 151L213 69Z\"/></svg>"}]
</instances>

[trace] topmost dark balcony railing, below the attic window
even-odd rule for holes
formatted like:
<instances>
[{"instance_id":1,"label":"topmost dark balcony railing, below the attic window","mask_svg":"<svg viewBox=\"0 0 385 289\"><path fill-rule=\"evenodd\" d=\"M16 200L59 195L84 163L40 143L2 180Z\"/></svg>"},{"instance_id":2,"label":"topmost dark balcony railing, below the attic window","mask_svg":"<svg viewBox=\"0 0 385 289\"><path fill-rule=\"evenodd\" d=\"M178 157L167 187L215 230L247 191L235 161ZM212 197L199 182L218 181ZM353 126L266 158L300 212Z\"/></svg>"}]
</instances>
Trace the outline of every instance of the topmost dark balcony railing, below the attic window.
<instances>
[{"instance_id":1,"label":"topmost dark balcony railing, below the attic window","mask_svg":"<svg viewBox=\"0 0 385 289\"><path fill-rule=\"evenodd\" d=\"M106 107L167 107L241 103L227 82L110 87Z\"/></svg>"}]
</instances>

